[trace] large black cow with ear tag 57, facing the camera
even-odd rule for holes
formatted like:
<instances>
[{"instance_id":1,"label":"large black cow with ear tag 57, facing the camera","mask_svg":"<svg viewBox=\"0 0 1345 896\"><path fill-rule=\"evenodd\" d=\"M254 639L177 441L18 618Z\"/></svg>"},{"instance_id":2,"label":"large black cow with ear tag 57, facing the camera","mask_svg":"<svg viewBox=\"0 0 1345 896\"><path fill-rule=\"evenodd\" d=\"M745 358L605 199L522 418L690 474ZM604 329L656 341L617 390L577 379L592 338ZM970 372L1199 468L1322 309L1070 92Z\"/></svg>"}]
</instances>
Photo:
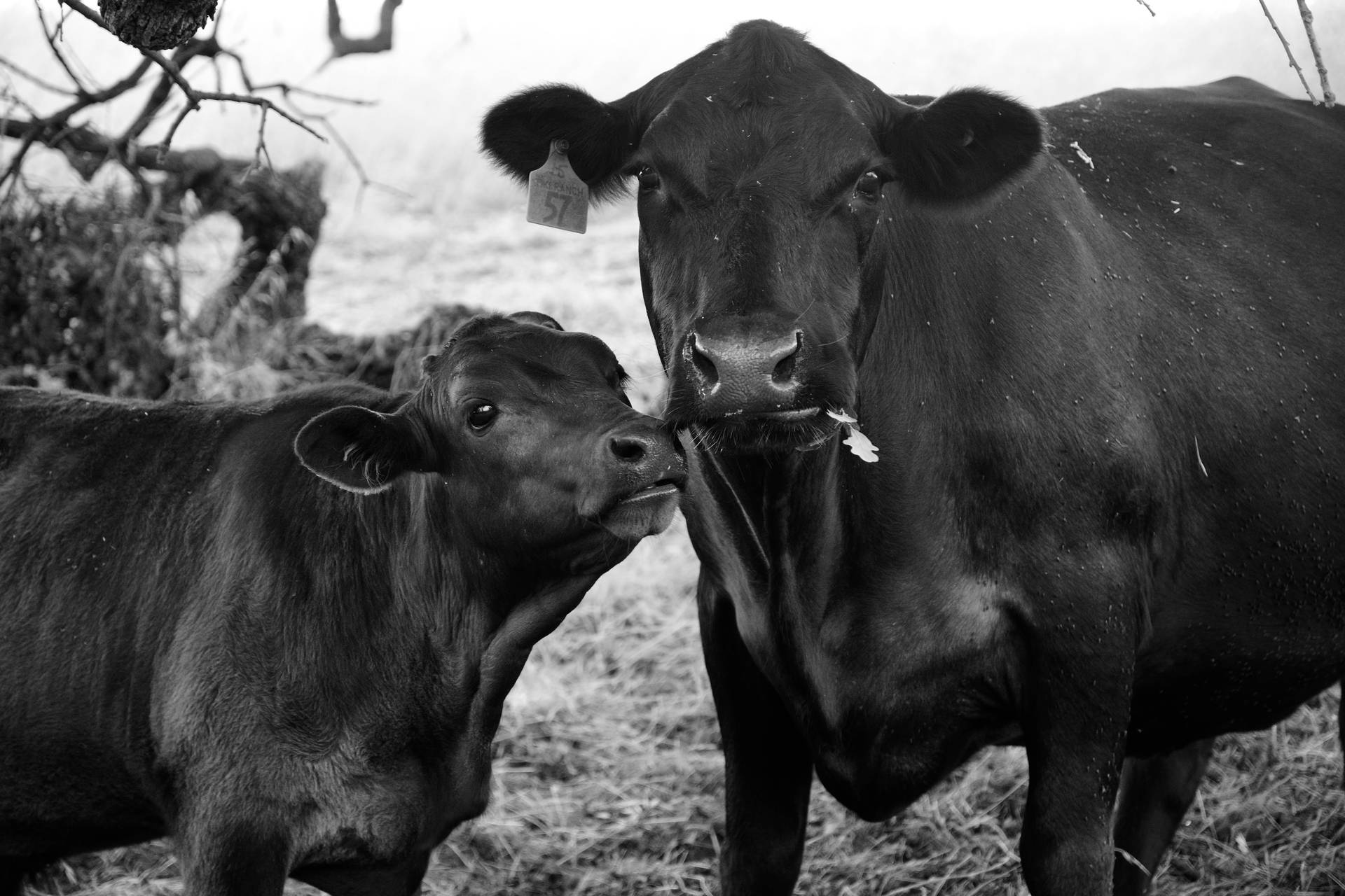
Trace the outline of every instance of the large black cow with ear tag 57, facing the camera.
<instances>
[{"instance_id":1,"label":"large black cow with ear tag 57, facing the camera","mask_svg":"<svg viewBox=\"0 0 1345 896\"><path fill-rule=\"evenodd\" d=\"M791 889L812 770L878 819L999 743L1029 889L1112 892L1209 737L1338 677L1345 110L1243 79L912 105L751 21L483 125L516 176L553 138L599 195L638 181L726 895Z\"/></svg>"}]
</instances>

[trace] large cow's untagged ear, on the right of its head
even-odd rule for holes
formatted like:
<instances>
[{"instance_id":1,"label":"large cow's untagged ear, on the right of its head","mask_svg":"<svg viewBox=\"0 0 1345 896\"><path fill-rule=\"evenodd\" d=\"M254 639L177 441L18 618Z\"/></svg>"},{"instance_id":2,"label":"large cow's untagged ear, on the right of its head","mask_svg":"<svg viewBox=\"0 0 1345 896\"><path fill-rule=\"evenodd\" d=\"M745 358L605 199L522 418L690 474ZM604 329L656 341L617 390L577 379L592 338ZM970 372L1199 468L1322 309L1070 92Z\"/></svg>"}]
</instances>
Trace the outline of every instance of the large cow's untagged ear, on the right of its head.
<instances>
[{"instance_id":1,"label":"large cow's untagged ear, on the right of its head","mask_svg":"<svg viewBox=\"0 0 1345 896\"><path fill-rule=\"evenodd\" d=\"M897 180L917 201L972 201L1037 164L1046 125L1034 109L982 89L955 90L927 106L902 103L880 134Z\"/></svg>"}]
</instances>

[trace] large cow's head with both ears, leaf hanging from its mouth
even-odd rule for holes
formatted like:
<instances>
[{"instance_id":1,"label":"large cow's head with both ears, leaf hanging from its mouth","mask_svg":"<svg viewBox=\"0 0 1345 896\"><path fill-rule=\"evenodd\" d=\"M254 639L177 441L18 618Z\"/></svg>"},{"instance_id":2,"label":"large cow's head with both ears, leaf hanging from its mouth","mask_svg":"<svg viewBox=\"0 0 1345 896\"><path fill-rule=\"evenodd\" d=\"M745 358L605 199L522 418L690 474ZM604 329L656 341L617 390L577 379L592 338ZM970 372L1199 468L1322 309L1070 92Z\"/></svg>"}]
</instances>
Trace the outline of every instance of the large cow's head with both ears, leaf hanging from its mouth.
<instances>
[{"instance_id":1,"label":"large cow's head with both ears, leaf hanging from its mouth","mask_svg":"<svg viewBox=\"0 0 1345 896\"><path fill-rule=\"evenodd\" d=\"M772 451L822 445L822 411L854 406L885 266L902 262L872 249L884 222L981 201L1034 164L1042 128L985 90L909 105L748 21L615 102L554 85L508 97L482 142L519 179L555 138L596 196L633 179L668 419Z\"/></svg>"}]
</instances>

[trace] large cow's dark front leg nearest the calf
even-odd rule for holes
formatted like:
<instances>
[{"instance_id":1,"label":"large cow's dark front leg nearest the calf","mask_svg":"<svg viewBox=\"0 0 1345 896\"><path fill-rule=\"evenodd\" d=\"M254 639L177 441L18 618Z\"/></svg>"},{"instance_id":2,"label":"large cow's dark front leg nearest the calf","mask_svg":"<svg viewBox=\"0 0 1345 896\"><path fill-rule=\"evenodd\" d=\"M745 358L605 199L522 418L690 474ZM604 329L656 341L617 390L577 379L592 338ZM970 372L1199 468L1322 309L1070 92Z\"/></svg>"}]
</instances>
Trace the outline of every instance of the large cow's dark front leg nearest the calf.
<instances>
[{"instance_id":1,"label":"large cow's dark front leg nearest the calf","mask_svg":"<svg viewBox=\"0 0 1345 896\"><path fill-rule=\"evenodd\" d=\"M705 666L724 742L722 896L794 892L808 823L812 760L779 695L738 635L732 602L701 576Z\"/></svg>"}]
</instances>

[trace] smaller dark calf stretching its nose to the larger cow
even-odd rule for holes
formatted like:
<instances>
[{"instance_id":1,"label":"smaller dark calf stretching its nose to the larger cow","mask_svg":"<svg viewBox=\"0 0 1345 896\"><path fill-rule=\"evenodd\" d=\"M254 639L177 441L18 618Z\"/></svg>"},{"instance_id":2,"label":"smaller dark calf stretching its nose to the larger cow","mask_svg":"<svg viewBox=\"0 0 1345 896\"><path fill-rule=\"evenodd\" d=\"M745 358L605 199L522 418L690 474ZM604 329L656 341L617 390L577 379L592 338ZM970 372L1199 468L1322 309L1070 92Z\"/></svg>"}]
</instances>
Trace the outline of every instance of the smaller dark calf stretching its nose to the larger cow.
<instances>
[{"instance_id":1,"label":"smaller dark calf stretching its nose to the larger cow","mask_svg":"<svg viewBox=\"0 0 1345 896\"><path fill-rule=\"evenodd\" d=\"M675 510L621 379L523 313L406 395L0 390L0 893L164 833L192 896L418 892L533 645Z\"/></svg>"}]
</instances>

